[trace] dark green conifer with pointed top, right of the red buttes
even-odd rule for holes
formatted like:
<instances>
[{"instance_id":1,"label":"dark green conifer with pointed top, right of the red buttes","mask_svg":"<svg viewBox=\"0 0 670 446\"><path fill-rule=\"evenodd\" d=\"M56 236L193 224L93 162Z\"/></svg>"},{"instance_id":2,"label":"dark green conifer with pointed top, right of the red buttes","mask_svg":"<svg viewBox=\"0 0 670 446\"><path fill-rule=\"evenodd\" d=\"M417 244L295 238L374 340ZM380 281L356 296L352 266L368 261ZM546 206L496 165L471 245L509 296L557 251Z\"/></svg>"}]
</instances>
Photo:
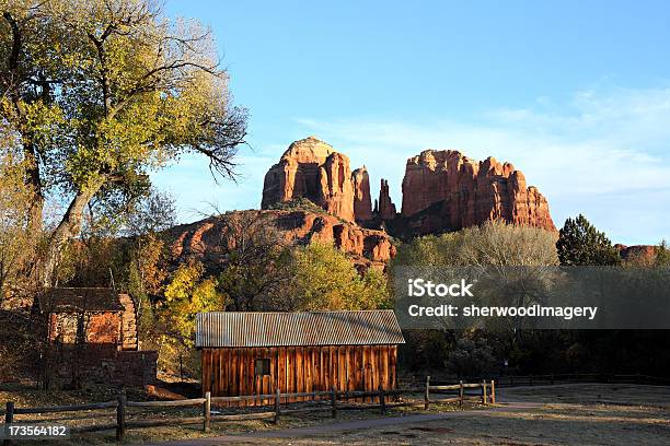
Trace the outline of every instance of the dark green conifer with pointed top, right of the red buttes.
<instances>
[{"instance_id":1,"label":"dark green conifer with pointed top, right of the red buttes","mask_svg":"<svg viewBox=\"0 0 670 446\"><path fill-rule=\"evenodd\" d=\"M556 249L564 266L621 263L619 251L610 239L581 214L565 221L558 233Z\"/></svg>"}]
</instances>

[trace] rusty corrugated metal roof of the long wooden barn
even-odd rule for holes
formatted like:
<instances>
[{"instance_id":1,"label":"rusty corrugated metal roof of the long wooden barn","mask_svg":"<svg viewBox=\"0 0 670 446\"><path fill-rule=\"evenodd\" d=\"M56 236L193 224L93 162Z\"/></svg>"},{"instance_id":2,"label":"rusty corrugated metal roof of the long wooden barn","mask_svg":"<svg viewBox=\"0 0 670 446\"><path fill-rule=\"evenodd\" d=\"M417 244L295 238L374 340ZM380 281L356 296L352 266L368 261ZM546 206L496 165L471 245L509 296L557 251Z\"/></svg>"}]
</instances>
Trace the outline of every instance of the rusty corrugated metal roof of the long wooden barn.
<instances>
[{"instance_id":1,"label":"rusty corrugated metal roof of the long wooden barn","mask_svg":"<svg viewBox=\"0 0 670 446\"><path fill-rule=\"evenodd\" d=\"M405 343L391 309L310 313L198 313L196 347L378 345Z\"/></svg>"}]
</instances>

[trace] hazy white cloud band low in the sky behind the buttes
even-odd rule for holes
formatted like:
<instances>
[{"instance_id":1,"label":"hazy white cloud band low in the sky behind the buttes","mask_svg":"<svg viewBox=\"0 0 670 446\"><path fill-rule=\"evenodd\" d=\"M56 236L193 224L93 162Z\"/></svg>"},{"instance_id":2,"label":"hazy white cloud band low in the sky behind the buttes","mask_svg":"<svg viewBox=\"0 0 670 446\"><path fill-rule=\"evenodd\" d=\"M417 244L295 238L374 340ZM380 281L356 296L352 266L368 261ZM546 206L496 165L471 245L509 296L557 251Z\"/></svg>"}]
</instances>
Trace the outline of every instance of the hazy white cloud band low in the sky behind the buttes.
<instances>
[{"instance_id":1,"label":"hazy white cloud band low in the sky behind the buttes","mask_svg":"<svg viewBox=\"0 0 670 446\"><path fill-rule=\"evenodd\" d=\"M477 122L298 122L363 160L373 177L389 178L398 203L408 156L458 149L512 162L548 198L558 225L585 213L615 242L670 236L670 89L586 91L567 104L541 98L536 105L490 110Z\"/></svg>"}]
</instances>

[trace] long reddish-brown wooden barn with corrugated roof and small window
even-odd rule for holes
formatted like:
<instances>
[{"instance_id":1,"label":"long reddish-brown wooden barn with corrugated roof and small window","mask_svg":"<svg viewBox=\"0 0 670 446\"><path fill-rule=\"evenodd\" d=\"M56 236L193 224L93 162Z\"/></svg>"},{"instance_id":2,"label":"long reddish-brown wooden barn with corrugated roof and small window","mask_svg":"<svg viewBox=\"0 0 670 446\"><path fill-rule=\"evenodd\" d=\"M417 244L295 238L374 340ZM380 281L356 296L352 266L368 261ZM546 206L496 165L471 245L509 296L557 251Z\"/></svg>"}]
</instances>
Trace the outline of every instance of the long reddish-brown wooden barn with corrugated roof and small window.
<instances>
[{"instance_id":1,"label":"long reddish-brown wooden barn with corrugated roof and small window","mask_svg":"<svg viewBox=\"0 0 670 446\"><path fill-rule=\"evenodd\" d=\"M200 313L203 392L211 396L397 387L392 310ZM250 402L253 403L253 402Z\"/></svg>"}]
</instances>

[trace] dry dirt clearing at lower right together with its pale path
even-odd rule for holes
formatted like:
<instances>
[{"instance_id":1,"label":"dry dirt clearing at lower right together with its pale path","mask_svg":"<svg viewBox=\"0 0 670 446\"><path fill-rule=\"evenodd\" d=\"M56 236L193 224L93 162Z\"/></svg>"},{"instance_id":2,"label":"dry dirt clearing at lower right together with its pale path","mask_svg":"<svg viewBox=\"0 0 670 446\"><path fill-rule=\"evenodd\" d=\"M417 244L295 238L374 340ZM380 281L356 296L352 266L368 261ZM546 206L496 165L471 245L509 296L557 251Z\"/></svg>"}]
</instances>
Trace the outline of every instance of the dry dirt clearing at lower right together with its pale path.
<instances>
[{"instance_id":1,"label":"dry dirt clearing at lower right together with its pale path","mask_svg":"<svg viewBox=\"0 0 670 446\"><path fill-rule=\"evenodd\" d=\"M499 389L503 407L331 421L162 446L235 445L647 445L669 444L670 387L561 385ZM524 402L519 402L524 401Z\"/></svg>"}]
</instances>

